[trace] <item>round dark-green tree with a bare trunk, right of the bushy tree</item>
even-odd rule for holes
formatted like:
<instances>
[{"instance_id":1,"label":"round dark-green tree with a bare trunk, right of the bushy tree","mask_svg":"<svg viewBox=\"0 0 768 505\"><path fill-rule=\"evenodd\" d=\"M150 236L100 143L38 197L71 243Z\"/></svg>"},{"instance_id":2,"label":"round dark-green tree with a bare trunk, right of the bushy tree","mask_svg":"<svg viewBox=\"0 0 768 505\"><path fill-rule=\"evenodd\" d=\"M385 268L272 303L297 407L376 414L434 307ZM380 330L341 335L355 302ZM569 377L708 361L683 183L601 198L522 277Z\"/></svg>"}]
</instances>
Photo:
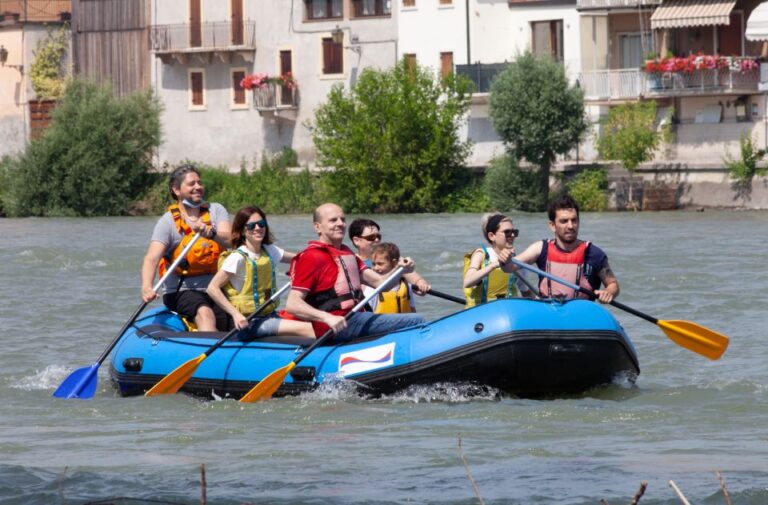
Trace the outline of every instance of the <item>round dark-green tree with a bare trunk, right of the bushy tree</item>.
<instances>
[{"instance_id":1,"label":"round dark-green tree with a bare trunk, right of the bushy tree","mask_svg":"<svg viewBox=\"0 0 768 505\"><path fill-rule=\"evenodd\" d=\"M509 152L537 167L543 196L536 210L543 210L557 155L568 153L587 131L581 89L568 83L561 64L526 52L491 84L490 117Z\"/></svg>"}]
</instances>

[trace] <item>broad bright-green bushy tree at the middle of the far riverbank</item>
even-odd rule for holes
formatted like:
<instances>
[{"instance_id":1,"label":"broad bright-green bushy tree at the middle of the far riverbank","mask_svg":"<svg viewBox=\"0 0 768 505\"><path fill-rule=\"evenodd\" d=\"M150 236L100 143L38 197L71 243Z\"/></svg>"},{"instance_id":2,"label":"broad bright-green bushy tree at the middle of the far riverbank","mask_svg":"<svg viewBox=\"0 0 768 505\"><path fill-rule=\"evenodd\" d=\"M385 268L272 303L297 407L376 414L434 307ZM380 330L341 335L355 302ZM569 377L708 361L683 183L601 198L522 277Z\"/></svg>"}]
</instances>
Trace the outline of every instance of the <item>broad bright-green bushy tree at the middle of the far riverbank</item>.
<instances>
[{"instance_id":1,"label":"broad bright-green bushy tree at the middle of the far riverbank","mask_svg":"<svg viewBox=\"0 0 768 505\"><path fill-rule=\"evenodd\" d=\"M471 83L437 79L401 61L366 69L350 90L335 86L315 113L312 136L327 182L352 212L436 212L471 181L459 138Z\"/></svg>"}]
</instances>

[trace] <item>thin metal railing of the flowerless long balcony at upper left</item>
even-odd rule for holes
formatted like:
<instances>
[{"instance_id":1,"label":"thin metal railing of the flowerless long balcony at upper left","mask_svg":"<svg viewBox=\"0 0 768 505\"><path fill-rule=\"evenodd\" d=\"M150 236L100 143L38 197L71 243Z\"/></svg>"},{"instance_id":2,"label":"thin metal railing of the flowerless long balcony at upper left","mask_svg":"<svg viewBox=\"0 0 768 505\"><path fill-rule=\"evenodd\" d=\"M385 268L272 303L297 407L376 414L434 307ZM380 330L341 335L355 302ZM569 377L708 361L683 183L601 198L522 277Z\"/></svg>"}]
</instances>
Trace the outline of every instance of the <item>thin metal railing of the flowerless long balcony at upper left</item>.
<instances>
[{"instance_id":1,"label":"thin metal railing of the flowerless long balcony at upper left","mask_svg":"<svg viewBox=\"0 0 768 505\"><path fill-rule=\"evenodd\" d=\"M153 25L152 51L158 53L256 48L256 23L229 21Z\"/></svg>"}]
</instances>

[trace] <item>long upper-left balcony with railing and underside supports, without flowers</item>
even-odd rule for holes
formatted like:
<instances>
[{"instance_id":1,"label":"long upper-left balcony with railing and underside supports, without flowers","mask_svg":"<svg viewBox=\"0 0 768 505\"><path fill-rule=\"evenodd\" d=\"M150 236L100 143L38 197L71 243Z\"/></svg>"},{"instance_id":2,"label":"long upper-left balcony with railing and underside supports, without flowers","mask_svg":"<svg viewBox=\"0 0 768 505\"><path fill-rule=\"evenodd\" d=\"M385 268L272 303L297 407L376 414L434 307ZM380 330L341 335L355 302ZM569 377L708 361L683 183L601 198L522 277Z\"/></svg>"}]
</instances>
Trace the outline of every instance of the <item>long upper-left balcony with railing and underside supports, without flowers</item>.
<instances>
[{"instance_id":1,"label":"long upper-left balcony with railing and underside supports, without flowers","mask_svg":"<svg viewBox=\"0 0 768 505\"><path fill-rule=\"evenodd\" d=\"M213 55L225 63L232 55L252 62L256 49L256 23L221 21L153 25L150 44L152 52L166 64L172 64L174 60L186 64L190 57L200 63L210 63Z\"/></svg>"}]
</instances>

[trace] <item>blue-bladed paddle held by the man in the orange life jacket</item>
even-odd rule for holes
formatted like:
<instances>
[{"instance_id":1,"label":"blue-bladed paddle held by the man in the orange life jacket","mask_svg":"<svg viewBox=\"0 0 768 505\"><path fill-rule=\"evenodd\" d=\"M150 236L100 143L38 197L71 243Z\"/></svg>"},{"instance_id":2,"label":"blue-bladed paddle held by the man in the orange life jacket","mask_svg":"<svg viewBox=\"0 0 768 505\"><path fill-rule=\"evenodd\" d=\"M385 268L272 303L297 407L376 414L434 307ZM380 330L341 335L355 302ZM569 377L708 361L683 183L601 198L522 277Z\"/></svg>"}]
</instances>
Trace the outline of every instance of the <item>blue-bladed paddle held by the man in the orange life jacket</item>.
<instances>
[{"instance_id":1,"label":"blue-bladed paddle held by the man in the orange life jacket","mask_svg":"<svg viewBox=\"0 0 768 505\"><path fill-rule=\"evenodd\" d=\"M192 249L192 246L195 245L195 242L197 242L197 239L199 238L199 233L192 237L192 240L189 241L189 244L184 247L184 249L181 251L181 254L179 254L176 260L174 260L174 262L171 263L171 266L169 266L165 271L165 275L163 275L160 280L157 281L157 284L155 284L155 286L152 288L153 291L157 292L162 287L162 285L165 284L168 276L171 275L171 272L176 270L176 267L179 266L179 263L181 263L181 261L187 256L187 253ZM123 336L125 330L127 330L128 327L136 321L136 318L139 317L139 314L144 311L147 305L149 305L149 302L142 302L141 305L139 305L128 322L126 322L123 327L120 328L120 331L112 340L112 343L110 343L104 352L101 353L101 356L99 356L99 359L96 360L96 363L91 366L78 368L69 374L69 376L64 379L64 382L62 382L56 391L53 392L53 396L56 398L79 398L81 400L93 398L93 395L96 393L96 385L99 381L99 367L104 362L104 360L107 359L109 353L112 352L112 349L114 349L117 343L120 341L120 337Z\"/></svg>"}]
</instances>

